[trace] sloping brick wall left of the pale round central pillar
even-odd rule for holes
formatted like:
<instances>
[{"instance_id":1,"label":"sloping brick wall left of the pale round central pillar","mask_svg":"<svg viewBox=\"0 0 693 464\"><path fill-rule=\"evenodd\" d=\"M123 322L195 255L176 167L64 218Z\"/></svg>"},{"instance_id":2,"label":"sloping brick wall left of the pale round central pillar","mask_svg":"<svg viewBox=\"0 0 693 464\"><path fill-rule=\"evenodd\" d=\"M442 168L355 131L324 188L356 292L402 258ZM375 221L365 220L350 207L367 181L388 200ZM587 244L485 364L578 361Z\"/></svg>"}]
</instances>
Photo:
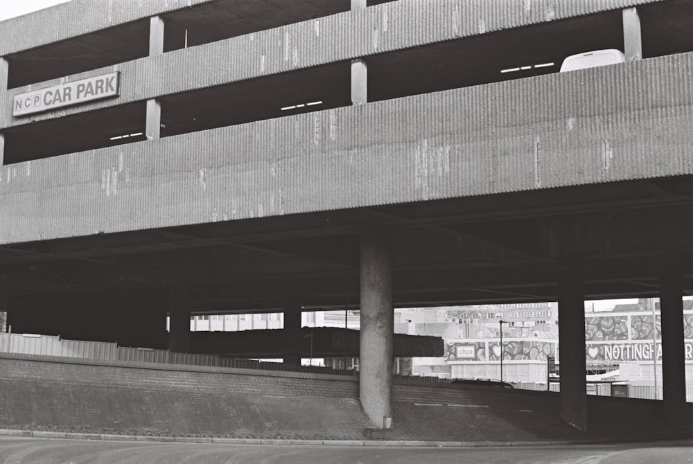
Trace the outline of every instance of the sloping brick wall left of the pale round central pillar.
<instances>
[{"instance_id":1,"label":"sloping brick wall left of the pale round central pillar","mask_svg":"<svg viewBox=\"0 0 693 464\"><path fill-rule=\"evenodd\" d=\"M0 355L0 427L360 438L358 380L337 375Z\"/></svg>"}]
</instances>

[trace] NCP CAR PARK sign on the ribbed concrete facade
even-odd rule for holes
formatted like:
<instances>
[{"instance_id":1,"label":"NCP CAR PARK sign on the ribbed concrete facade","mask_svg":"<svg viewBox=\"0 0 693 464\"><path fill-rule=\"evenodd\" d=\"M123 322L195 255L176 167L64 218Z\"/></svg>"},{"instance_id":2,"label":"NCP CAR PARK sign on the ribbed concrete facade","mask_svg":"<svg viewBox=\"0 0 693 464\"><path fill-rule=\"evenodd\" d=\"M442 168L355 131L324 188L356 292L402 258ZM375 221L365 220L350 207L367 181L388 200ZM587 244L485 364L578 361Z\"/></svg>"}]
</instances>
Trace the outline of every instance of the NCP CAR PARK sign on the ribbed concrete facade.
<instances>
[{"instance_id":1,"label":"NCP CAR PARK sign on the ribbed concrete facade","mask_svg":"<svg viewBox=\"0 0 693 464\"><path fill-rule=\"evenodd\" d=\"M12 104L12 116L40 113L68 105L100 100L120 93L120 72L65 82L45 89L20 93Z\"/></svg>"}]
</instances>

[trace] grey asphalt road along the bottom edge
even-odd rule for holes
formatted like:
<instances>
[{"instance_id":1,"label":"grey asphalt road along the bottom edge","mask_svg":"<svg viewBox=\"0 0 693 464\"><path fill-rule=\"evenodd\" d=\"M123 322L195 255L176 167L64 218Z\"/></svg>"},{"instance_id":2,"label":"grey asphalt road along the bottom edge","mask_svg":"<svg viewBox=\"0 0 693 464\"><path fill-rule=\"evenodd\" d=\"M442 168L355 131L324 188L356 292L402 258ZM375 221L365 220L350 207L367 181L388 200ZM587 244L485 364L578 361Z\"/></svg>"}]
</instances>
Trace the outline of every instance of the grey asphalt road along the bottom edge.
<instances>
[{"instance_id":1,"label":"grey asphalt road along the bottom edge","mask_svg":"<svg viewBox=\"0 0 693 464\"><path fill-rule=\"evenodd\" d=\"M693 463L693 442L558 447L410 448L220 445L0 438L2 464Z\"/></svg>"}]
</instances>

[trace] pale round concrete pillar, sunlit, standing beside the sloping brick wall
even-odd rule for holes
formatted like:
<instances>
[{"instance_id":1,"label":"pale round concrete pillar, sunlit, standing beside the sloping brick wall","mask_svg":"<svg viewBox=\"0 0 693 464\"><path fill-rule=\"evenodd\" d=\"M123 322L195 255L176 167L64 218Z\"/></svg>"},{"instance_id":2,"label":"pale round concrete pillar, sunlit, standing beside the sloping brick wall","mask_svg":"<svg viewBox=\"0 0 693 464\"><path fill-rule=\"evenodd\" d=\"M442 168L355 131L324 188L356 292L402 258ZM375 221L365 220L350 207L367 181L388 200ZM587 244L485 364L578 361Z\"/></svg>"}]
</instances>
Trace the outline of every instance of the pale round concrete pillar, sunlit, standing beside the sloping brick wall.
<instances>
[{"instance_id":1,"label":"pale round concrete pillar, sunlit, standing beside the sloping brick wall","mask_svg":"<svg viewBox=\"0 0 693 464\"><path fill-rule=\"evenodd\" d=\"M361 233L359 398L374 427L392 426L392 233Z\"/></svg>"}]
</instances>

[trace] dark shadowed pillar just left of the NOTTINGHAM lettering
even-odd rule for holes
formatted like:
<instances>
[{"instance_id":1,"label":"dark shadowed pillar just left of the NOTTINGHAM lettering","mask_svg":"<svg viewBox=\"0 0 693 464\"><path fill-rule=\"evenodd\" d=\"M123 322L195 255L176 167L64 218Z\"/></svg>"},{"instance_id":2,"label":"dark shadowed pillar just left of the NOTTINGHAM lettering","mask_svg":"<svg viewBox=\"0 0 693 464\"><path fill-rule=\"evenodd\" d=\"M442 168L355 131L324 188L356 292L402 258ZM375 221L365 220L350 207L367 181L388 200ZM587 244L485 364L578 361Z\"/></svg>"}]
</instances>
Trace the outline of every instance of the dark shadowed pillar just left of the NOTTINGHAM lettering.
<instances>
[{"instance_id":1,"label":"dark shadowed pillar just left of the NOTTINGHAM lettering","mask_svg":"<svg viewBox=\"0 0 693 464\"><path fill-rule=\"evenodd\" d=\"M585 289L581 260L559 260L559 360L561 418L587 431Z\"/></svg>"}]
</instances>

